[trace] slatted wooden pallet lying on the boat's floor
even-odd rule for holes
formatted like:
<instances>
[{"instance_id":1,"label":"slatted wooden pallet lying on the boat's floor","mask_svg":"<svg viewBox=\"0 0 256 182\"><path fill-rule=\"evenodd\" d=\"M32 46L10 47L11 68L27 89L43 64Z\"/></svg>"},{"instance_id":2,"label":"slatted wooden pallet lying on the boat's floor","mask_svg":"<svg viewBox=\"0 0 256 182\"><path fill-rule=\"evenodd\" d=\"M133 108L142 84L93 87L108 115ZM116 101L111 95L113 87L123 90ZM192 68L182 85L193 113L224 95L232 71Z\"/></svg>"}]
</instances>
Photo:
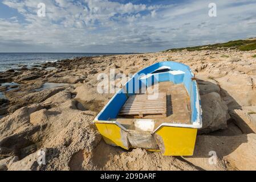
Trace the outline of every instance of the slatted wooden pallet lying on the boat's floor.
<instances>
[{"instance_id":1,"label":"slatted wooden pallet lying on the boat's floor","mask_svg":"<svg viewBox=\"0 0 256 182\"><path fill-rule=\"evenodd\" d=\"M130 96L120 110L119 115L135 118L166 117L166 93Z\"/></svg>"}]
</instances>

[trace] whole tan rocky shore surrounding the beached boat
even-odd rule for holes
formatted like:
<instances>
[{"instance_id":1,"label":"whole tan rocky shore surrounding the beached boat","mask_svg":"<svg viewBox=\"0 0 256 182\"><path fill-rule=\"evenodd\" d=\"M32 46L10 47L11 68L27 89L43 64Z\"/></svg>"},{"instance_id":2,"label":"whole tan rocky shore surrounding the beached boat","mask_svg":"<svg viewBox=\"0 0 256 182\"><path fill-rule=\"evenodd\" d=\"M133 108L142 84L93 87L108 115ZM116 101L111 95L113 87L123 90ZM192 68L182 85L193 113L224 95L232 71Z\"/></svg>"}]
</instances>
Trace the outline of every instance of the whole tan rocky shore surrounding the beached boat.
<instances>
[{"instance_id":1,"label":"whole tan rocky shore surrounding the beached boat","mask_svg":"<svg viewBox=\"0 0 256 182\"><path fill-rule=\"evenodd\" d=\"M82 57L0 73L1 170L256 170L256 51L213 49ZM194 156L108 146L94 123L112 97L97 75L136 73L159 61L189 65L203 129ZM58 83L58 84L57 84ZM38 151L46 164L38 163ZM209 163L210 151L217 163Z\"/></svg>"}]
</instances>

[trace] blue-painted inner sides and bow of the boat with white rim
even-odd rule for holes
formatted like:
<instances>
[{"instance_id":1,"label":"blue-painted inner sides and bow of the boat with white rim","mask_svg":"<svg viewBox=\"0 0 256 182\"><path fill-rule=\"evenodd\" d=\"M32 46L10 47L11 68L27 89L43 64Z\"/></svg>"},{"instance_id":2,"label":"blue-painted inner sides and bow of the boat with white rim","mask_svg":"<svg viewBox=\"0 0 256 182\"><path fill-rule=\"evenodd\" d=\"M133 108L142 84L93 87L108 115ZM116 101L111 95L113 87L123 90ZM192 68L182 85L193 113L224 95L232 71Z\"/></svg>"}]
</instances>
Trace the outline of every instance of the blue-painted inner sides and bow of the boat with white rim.
<instances>
[{"instance_id":1,"label":"blue-painted inner sides and bow of the boat with white rim","mask_svg":"<svg viewBox=\"0 0 256 182\"><path fill-rule=\"evenodd\" d=\"M97 121L109 121L117 118L119 111L130 96L139 94L141 88L149 88L161 82L172 82L174 85L182 84L188 94L190 102L190 125L200 121L200 96L197 82L193 80L190 68L182 63L164 61L153 64L136 73L124 86L112 97L104 109L97 115Z\"/></svg>"}]
</instances>

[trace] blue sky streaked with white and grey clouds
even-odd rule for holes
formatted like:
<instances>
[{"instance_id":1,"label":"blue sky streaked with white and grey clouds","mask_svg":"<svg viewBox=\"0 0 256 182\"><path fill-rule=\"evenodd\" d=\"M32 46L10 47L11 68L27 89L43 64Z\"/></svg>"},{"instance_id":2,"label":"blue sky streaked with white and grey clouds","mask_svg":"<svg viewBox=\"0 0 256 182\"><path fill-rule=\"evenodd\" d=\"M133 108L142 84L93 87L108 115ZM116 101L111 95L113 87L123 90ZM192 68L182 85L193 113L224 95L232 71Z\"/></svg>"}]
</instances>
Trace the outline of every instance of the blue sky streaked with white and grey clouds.
<instances>
[{"instance_id":1,"label":"blue sky streaked with white and grey clouds","mask_svg":"<svg viewBox=\"0 0 256 182\"><path fill-rule=\"evenodd\" d=\"M0 52L153 52L251 37L256 0L0 0Z\"/></svg>"}]
</instances>

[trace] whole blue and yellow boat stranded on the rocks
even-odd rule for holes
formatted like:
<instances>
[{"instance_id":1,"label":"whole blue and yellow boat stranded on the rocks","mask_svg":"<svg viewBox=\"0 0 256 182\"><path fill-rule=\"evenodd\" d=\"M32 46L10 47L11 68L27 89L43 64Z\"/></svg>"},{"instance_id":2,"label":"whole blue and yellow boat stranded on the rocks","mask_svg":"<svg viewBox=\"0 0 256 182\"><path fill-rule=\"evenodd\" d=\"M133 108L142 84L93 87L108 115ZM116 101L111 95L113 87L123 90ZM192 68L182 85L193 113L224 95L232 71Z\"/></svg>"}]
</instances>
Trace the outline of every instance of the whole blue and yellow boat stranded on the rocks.
<instances>
[{"instance_id":1,"label":"whole blue and yellow boat stranded on the rocks","mask_svg":"<svg viewBox=\"0 0 256 182\"><path fill-rule=\"evenodd\" d=\"M202 127L201 114L190 68L165 61L136 73L94 122L105 142L113 146L191 156Z\"/></svg>"}]
</instances>

